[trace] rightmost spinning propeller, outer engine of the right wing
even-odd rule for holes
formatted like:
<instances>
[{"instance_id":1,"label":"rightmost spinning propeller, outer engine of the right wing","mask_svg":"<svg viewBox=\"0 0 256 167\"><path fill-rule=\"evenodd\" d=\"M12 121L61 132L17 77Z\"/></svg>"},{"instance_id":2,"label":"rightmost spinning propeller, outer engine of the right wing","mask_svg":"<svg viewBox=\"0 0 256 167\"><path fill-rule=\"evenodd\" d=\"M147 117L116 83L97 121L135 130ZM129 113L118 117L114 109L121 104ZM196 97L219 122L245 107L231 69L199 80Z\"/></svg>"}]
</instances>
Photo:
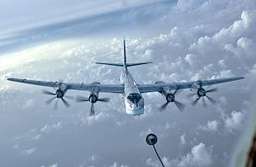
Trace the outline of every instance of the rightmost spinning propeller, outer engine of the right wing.
<instances>
[{"instance_id":1,"label":"rightmost spinning propeller, outer engine of the right wing","mask_svg":"<svg viewBox=\"0 0 256 167\"><path fill-rule=\"evenodd\" d=\"M206 102L205 98L207 98L207 100L210 101L212 104L216 103L216 100L214 98L210 98L207 95L207 93L215 92L215 91L218 91L218 88L212 88L212 89L206 91L205 89L202 88L202 86L200 84L200 89L198 89L198 91L195 93L188 94L187 98L192 98L193 96L196 95L198 98L194 99L191 104L196 105L199 102L200 98L202 98L203 106L206 107L207 102Z\"/></svg>"}]
</instances>

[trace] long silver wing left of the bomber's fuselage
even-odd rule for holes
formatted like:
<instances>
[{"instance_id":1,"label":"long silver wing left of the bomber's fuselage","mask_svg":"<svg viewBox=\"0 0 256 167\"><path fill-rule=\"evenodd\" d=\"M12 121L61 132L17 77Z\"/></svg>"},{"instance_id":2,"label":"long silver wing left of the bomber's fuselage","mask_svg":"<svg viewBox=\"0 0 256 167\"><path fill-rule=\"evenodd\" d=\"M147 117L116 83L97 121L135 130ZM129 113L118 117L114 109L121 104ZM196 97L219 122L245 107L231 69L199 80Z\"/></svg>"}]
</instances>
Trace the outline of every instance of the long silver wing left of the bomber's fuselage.
<instances>
[{"instance_id":1,"label":"long silver wing left of the bomber's fuselage","mask_svg":"<svg viewBox=\"0 0 256 167\"><path fill-rule=\"evenodd\" d=\"M34 84L46 87L58 87L60 85L65 85L67 90L77 90L77 91L98 91L98 92L109 92L109 93L123 93L124 85L122 84L71 84L71 83L60 83L60 82L47 82L47 81L37 81L28 80L20 78L8 78L8 81L23 83L23 84Z\"/></svg>"}]
</instances>

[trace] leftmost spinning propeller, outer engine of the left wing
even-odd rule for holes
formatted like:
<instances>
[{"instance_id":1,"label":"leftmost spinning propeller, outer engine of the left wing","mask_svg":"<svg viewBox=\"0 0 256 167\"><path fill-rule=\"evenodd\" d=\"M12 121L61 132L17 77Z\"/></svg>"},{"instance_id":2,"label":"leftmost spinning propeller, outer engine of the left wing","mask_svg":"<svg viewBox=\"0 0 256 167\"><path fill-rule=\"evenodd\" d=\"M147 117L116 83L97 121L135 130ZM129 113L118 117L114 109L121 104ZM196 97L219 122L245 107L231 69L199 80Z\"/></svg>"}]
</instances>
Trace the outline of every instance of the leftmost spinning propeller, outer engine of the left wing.
<instances>
[{"instance_id":1,"label":"leftmost spinning propeller, outer engine of the left wing","mask_svg":"<svg viewBox=\"0 0 256 167\"><path fill-rule=\"evenodd\" d=\"M56 98L56 102L55 102L55 105L54 105L54 110L57 110L58 108L58 99L60 98L61 101L63 102L63 104L66 106L66 107L69 107L70 104L67 102L67 100L65 98L69 98L69 99L73 99L72 96L65 96L64 98L64 91L61 91L61 90L56 90L56 92L51 92L51 91L46 91L46 90L42 90L42 93L43 94L46 94L46 95L49 95L49 96L53 96L52 98L49 98L48 100L45 101L45 103L47 105L49 105L50 103L53 102L53 100Z\"/></svg>"}]
</instances>

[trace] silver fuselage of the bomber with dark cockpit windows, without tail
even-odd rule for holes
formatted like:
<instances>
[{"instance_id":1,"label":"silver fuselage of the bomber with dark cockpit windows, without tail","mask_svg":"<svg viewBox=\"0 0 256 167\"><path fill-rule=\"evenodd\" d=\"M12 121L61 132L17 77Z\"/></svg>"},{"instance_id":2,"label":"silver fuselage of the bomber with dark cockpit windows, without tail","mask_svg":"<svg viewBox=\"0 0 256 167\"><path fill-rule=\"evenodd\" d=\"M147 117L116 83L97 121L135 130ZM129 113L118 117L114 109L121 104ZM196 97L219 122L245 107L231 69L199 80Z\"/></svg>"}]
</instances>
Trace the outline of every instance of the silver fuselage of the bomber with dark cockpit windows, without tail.
<instances>
[{"instance_id":1,"label":"silver fuselage of the bomber with dark cockpit windows, without tail","mask_svg":"<svg viewBox=\"0 0 256 167\"><path fill-rule=\"evenodd\" d=\"M123 98L126 113L134 116L143 114L144 99L128 69L121 69L120 82L124 84Z\"/></svg>"}]
</instances>

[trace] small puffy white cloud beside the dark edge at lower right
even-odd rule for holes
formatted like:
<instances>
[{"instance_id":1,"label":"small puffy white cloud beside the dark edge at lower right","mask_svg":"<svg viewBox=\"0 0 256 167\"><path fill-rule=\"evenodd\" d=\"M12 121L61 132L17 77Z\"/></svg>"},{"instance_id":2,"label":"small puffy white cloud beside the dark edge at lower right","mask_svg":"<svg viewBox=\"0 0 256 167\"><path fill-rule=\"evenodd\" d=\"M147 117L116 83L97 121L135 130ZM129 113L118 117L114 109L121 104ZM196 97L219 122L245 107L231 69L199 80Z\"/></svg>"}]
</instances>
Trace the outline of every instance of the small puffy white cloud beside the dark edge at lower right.
<instances>
[{"instance_id":1,"label":"small puffy white cloud beside the dark edge at lower right","mask_svg":"<svg viewBox=\"0 0 256 167\"><path fill-rule=\"evenodd\" d=\"M232 111L225 120L225 127L231 131L238 130L243 125L243 120L245 120L245 113Z\"/></svg>"}]
</instances>

